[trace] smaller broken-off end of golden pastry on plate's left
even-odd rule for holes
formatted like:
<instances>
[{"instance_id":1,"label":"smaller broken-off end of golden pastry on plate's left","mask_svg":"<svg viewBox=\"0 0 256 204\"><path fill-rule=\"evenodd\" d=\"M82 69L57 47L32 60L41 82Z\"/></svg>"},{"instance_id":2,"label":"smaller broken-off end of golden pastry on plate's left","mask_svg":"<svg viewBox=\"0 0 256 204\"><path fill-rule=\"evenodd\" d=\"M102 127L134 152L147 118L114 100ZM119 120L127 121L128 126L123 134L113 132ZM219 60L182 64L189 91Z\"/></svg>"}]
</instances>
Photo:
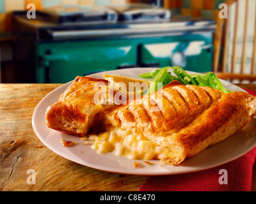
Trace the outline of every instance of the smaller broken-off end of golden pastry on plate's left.
<instances>
[{"instance_id":1,"label":"smaller broken-off end of golden pastry on plate's left","mask_svg":"<svg viewBox=\"0 0 256 204\"><path fill-rule=\"evenodd\" d=\"M90 77L76 77L60 99L47 108L46 124L49 128L77 136L88 133L94 115L108 105L95 104L93 100L101 85L102 91L108 93L108 81ZM106 89L106 90L105 90Z\"/></svg>"}]
</instances>

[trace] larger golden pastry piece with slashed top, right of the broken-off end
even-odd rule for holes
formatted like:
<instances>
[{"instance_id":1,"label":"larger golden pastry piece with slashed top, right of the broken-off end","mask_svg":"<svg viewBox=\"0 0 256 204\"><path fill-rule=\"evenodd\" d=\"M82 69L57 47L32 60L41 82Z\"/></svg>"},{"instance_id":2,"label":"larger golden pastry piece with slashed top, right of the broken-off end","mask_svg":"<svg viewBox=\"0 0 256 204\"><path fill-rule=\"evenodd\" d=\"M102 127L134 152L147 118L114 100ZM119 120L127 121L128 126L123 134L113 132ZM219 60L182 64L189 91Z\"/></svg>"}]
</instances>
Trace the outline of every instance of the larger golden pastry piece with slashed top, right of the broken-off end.
<instances>
[{"instance_id":1,"label":"larger golden pastry piece with slashed top, right of the broken-off end","mask_svg":"<svg viewBox=\"0 0 256 204\"><path fill-rule=\"evenodd\" d=\"M100 112L105 124L102 131L116 126L136 128L137 135L171 150L171 154L158 159L177 165L233 135L256 113L256 97L246 92L225 94L209 87L169 85L159 93L163 102L155 93ZM152 112L150 99L162 103L161 111Z\"/></svg>"}]
</instances>

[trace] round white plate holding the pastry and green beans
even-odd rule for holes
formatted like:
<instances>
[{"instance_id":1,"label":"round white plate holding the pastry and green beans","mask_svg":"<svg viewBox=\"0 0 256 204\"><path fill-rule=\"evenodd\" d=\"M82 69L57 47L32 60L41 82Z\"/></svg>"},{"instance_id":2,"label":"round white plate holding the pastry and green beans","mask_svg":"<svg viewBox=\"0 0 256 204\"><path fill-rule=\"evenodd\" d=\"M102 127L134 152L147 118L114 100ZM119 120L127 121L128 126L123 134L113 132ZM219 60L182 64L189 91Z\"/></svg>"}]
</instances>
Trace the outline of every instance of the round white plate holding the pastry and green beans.
<instances>
[{"instance_id":1,"label":"round white plate holding the pastry and green beans","mask_svg":"<svg viewBox=\"0 0 256 204\"><path fill-rule=\"evenodd\" d=\"M125 77L138 78L138 75L151 71L154 68L132 68L119 69L115 71L108 71L104 73L112 75L122 75ZM188 72L192 73L192 72ZM94 78L103 78L102 73L90 75ZM223 85L231 91L243 91L243 89L236 85L230 84L221 80ZM56 152L62 157L74 161L91 168L96 168L104 171L111 171L116 173L127 173L134 175L172 175L179 173L189 173L193 171L200 171L228 163L237 159L246 152L256 146L256 119L253 118L241 131L231 136L227 140L218 143L212 147L208 147L204 151L197 154L195 157L186 159L178 166L163 165L159 166L158 160L153 160L152 165L147 165L141 160L131 160L123 156L115 156L112 153L100 155L92 149L91 145L83 145L79 137L60 133L48 128L45 124L45 112L49 105L58 101L60 94L62 94L72 82L61 85L54 91L45 96L35 108L32 118L33 129L45 146ZM64 140L71 140L77 142L73 147L63 147L59 142L61 138ZM141 164L141 168L133 168L134 161Z\"/></svg>"}]
</instances>

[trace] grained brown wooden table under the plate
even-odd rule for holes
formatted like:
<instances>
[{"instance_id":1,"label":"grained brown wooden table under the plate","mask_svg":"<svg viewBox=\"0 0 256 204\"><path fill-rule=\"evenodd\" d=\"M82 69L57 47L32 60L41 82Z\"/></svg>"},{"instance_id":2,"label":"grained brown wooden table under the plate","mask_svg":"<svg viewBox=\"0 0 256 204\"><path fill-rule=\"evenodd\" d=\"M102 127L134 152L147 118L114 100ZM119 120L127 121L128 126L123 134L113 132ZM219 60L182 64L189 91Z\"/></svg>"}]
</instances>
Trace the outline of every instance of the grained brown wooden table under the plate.
<instances>
[{"instance_id":1,"label":"grained brown wooden table under the plate","mask_svg":"<svg viewBox=\"0 0 256 204\"><path fill-rule=\"evenodd\" d=\"M33 111L58 86L0 84L0 191L137 191L148 176L95 170L59 156L38 140L31 124ZM255 84L239 87L256 91ZM35 170L35 184L28 184L29 170Z\"/></svg>"}]
</instances>

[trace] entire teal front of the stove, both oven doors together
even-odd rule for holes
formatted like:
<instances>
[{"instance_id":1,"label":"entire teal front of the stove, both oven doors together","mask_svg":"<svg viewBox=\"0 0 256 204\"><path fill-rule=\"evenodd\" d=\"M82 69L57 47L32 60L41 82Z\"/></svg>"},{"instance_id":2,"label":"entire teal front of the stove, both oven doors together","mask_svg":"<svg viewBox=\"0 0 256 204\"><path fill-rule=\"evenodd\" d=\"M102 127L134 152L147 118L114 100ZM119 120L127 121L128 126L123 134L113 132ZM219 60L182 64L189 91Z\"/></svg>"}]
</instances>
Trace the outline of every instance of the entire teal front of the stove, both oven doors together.
<instances>
[{"instance_id":1,"label":"entire teal front of the stove, both oven doors together","mask_svg":"<svg viewBox=\"0 0 256 204\"><path fill-rule=\"evenodd\" d=\"M147 38L38 43L39 83L66 83L76 76L132 67L212 69L212 33Z\"/></svg>"}]
</instances>

